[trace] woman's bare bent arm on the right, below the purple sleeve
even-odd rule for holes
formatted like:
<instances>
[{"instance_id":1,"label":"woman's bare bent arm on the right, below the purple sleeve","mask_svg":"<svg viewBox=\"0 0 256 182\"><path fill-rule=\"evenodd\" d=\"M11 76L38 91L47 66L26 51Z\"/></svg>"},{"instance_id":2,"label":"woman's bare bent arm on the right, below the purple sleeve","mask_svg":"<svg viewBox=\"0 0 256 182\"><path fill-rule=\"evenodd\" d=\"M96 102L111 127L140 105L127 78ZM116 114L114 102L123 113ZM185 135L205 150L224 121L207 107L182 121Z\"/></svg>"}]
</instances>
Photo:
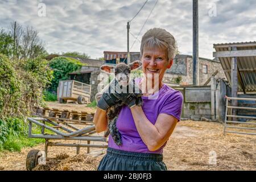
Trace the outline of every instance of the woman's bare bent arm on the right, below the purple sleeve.
<instances>
[{"instance_id":1,"label":"woman's bare bent arm on the right, below the purple sleeve","mask_svg":"<svg viewBox=\"0 0 256 182\"><path fill-rule=\"evenodd\" d=\"M134 106L131 108L135 126L146 144L148 150L158 150L171 136L177 124L177 118L168 114L159 114L155 125L148 121L142 107Z\"/></svg>"}]
</instances>

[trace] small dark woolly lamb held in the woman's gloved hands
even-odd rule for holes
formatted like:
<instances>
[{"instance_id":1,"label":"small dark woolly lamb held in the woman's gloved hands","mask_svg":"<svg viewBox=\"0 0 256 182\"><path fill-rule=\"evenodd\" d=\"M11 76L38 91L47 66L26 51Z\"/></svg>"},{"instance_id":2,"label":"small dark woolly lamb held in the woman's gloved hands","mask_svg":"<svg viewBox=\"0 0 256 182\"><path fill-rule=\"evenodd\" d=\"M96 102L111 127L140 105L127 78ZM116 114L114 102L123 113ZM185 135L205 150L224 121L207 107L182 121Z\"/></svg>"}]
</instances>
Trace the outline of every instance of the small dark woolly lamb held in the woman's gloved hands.
<instances>
[{"instance_id":1,"label":"small dark woolly lamb held in the woman's gloved hands","mask_svg":"<svg viewBox=\"0 0 256 182\"><path fill-rule=\"evenodd\" d=\"M142 65L141 61L134 61L133 63L130 63L129 65L127 65L125 63L119 63L116 67L111 66L111 65L102 65L100 69L101 69L101 71L103 71L107 74L110 74L111 69L114 69L114 71L115 71L114 79L117 80L120 85L127 86L127 85L129 85L129 74L130 74L131 70L138 69L141 67L141 65ZM123 78L123 76L125 76L126 78ZM134 79L133 79L133 82L134 82ZM96 96L95 96L96 101L98 101L100 99L104 90L102 90L101 93L96 94ZM136 103L141 106L142 105L142 98L141 98L142 93L141 92L135 93L134 91L135 91L135 88L133 88L133 93L137 97ZM105 132L104 137L108 137L108 135L110 134L112 136L114 142L118 146L122 145L122 139L121 139L120 133L119 133L116 125L117 125L118 114L123 105L125 105L125 104L122 101L118 101L114 106L110 107L106 111L106 115L108 118L108 130Z\"/></svg>"}]
</instances>

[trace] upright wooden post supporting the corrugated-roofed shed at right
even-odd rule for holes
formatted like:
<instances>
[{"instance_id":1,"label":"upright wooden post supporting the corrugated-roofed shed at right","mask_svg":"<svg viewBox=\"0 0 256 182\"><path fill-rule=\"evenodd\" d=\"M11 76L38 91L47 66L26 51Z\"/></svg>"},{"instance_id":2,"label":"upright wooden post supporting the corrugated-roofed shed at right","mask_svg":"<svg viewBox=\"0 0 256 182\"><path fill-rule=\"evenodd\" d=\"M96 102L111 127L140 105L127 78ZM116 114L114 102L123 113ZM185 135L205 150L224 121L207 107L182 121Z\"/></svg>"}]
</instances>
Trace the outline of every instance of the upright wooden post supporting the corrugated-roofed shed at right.
<instances>
[{"instance_id":1,"label":"upright wooden post supporting the corrugated-roofed shed at right","mask_svg":"<svg viewBox=\"0 0 256 182\"><path fill-rule=\"evenodd\" d=\"M231 48L232 51L237 51L236 47ZM231 60L231 97L237 97L238 77L237 77L237 57L232 57ZM238 106L237 100L232 100L232 106ZM233 109L232 115L237 115L237 110ZM233 121L237 121L233 118Z\"/></svg>"}]
</instances>

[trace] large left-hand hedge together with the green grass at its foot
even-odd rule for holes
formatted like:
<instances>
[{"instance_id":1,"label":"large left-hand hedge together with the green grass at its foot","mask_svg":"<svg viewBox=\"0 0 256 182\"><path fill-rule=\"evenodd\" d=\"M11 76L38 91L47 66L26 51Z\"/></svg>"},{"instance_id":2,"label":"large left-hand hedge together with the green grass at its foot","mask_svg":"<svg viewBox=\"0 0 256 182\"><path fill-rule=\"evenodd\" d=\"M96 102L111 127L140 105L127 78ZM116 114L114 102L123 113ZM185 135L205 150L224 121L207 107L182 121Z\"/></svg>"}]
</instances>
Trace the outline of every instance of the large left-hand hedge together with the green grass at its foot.
<instances>
[{"instance_id":1,"label":"large left-hand hedge together with the green grass at its foot","mask_svg":"<svg viewBox=\"0 0 256 182\"><path fill-rule=\"evenodd\" d=\"M24 118L33 106L42 106L43 90L51 84L53 71L42 57L10 60L0 54L0 149L20 151L42 139L28 139Z\"/></svg>"}]
</instances>

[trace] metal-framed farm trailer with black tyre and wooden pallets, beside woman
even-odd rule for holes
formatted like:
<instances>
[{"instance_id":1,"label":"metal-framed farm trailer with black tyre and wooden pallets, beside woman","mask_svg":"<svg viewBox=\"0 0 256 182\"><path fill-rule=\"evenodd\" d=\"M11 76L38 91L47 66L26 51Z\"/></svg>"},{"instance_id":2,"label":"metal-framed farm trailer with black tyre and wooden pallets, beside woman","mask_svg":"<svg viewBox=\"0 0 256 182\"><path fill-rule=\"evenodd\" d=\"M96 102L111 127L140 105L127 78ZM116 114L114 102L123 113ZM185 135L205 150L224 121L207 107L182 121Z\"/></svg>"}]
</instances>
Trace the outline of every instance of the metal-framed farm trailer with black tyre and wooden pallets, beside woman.
<instances>
[{"instance_id":1,"label":"metal-framed farm trailer with black tyre and wooden pallets, beside woman","mask_svg":"<svg viewBox=\"0 0 256 182\"><path fill-rule=\"evenodd\" d=\"M79 154L80 147L107 148L107 139L103 136L93 135L96 133L93 125L94 113L80 112L75 110L59 110L49 107L35 107L35 118L28 119L28 137L43 138L46 140L45 150L31 150L28 152L26 167L30 171L37 164L45 164L48 146L76 147L76 154ZM41 127L40 134L33 134L33 126ZM77 143L52 142L52 140L75 140ZM87 144L82 143L87 141ZM97 142L91 144L90 142ZM100 144L98 144L100 143ZM101 144L102 143L102 144ZM101 151L102 154L102 151Z\"/></svg>"}]
</instances>

